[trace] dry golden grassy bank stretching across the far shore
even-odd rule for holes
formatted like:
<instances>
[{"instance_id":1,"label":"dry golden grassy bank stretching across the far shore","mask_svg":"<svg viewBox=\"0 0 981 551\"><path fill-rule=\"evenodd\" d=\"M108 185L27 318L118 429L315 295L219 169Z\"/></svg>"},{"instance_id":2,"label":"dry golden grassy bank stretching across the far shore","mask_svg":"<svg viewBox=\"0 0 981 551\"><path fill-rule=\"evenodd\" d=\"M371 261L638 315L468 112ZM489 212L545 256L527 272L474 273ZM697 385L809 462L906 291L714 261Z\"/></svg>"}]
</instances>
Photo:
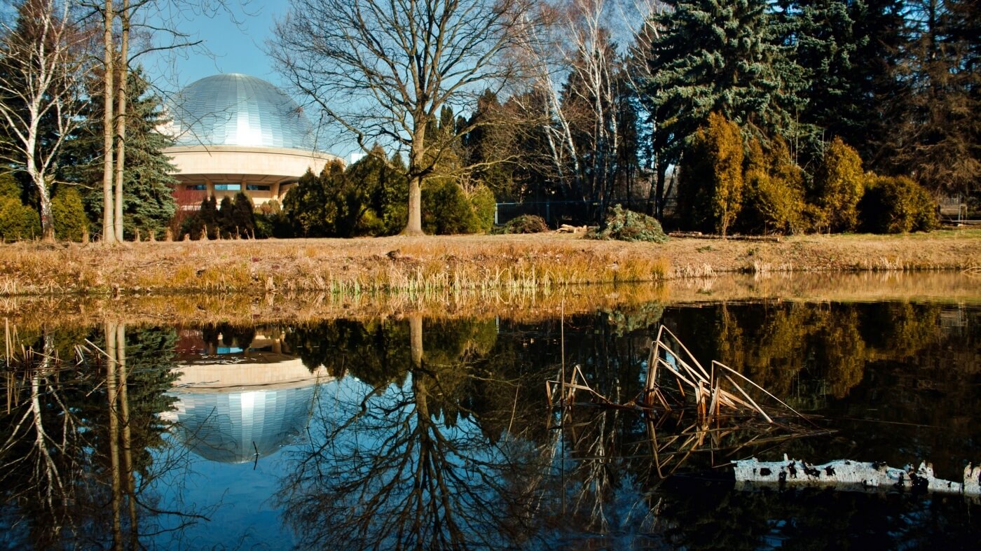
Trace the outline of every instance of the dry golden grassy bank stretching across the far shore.
<instances>
[{"instance_id":1,"label":"dry golden grassy bank stretching across the far shore","mask_svg":"<svg viewBox=\"0 0 981 551\"><path fill-rule=\"evenodd\" d=\"M358 297L439 289L514 292L725 273L967 270L981 231L806 235L779 242L570 234L0 246L0 295L317 292Z\"/></svg>"}]
</instances>

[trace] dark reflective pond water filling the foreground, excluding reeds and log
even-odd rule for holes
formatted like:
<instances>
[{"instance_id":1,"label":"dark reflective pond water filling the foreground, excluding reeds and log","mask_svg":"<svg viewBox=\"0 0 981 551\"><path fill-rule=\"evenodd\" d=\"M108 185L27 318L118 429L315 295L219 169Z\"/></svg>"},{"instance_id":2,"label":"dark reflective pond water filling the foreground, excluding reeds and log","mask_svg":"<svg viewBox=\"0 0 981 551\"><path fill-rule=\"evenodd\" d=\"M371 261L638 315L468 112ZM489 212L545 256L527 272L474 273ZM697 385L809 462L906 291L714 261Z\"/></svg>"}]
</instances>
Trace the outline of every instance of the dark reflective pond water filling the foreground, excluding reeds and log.
<instances>
[{"instance_id":1,"label":"dark reflective pond water filling the foreground, excluding reeds and log","mask_svg":"<svg viewBox=\"0 0 981 551\"><path fill-rule=\"evenodd\" d=\"M634 398L660 324L820 433L780 439L744 419L693 445L684 417L652 433L634 411L548 407L563 365ZM0 547L971 548L981 535L962 497L739 491L724 467L927 459L959 480L981 460L976 303L17 336L36 354L17 348L3 372Z\"/></svg>"}]
</instances>

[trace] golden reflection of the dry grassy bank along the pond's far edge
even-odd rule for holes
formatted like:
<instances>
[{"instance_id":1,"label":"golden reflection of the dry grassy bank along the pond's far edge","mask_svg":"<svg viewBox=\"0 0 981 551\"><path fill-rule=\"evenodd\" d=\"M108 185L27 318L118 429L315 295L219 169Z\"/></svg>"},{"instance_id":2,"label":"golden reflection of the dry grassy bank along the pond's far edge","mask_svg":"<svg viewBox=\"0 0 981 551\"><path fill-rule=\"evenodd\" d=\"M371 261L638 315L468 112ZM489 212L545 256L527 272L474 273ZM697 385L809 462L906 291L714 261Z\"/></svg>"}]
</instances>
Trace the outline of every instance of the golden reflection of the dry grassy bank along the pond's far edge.
<instances>
[{"instance_id":1,"label":"golden reflection of the dry grassy bank along the pond's far edge","mask_svg":"<svg viewBox=\"0 0 981 551\"><path fill-rule=\"evenodd\" d=\"M540 322L607 312L636 315L698 304L910 302L981 305L981 275L953 271L840 274L774 273L687 278L655 283L564 288L453 291L416 295L329 293L148 294L119 297L0 297L11 326L136 326L182 324L305 324L325 319L506 319Z\"/></svg>"}]
</instances>

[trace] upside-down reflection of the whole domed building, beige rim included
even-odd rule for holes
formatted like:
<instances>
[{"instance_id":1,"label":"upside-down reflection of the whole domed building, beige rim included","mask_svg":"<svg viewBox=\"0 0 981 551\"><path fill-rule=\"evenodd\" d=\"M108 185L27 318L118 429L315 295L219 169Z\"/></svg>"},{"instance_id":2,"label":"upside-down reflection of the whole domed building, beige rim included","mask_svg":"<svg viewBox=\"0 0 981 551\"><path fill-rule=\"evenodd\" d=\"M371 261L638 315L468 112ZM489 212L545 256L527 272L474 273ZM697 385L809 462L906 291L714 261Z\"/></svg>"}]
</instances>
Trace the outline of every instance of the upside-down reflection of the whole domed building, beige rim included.
<instances>
[{"instance_id":1,"label":"upside-down reflection of the whole domed building, beige rim included","mask_svg":"<svg viewBox=\"0 0 981 551\"><path fill-rule=\"evenodd\" d=\"M308 370L274 327L181 328L177 400L163 416L200 457L245 463L271 456L306 428L327 370Z\"/></svg>"}]
</instances>

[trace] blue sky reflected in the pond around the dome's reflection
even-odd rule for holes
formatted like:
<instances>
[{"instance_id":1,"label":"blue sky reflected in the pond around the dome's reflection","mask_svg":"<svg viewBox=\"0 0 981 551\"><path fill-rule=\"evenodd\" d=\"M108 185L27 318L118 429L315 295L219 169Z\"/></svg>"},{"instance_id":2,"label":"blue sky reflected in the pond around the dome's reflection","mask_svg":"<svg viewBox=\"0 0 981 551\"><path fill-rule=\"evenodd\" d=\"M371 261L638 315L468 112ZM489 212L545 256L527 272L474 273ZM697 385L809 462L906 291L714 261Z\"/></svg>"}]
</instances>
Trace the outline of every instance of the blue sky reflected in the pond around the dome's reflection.
<instances>
[{"instance_id":1,"label":"blue sky reflected in the pond around the dome's reflection","mask_svg":"<svg viewBox=\"0 0 981 551\"><path fill-rule=\"evenodd\" d=\"M411 400L405 401L406 398L413 397L412 377L406 377L403 383L391 385L383 394L372 397L368 402L367 412L362 412L362 402L365 396L372 392L372 386L352 376L318 385L316 391L309 398L305 398L307 410L304 410L304 415L308 415L309 408L313 408L312 417L309 418L309 429L314 441L308 441L305 437L292 438L279 446L277 453L262 456L257 464L248 460L244 463L209 461L203 454L198 455L196 449L195 453L185 454L186 469L171 471L160 480L164 504L168 501L172 503L180 501L197 504L199 508L210 505L214 510L205 512L210 521L199 521L196 525L185 529L177 545L171 540L172 535L162 535L159 540L161 546L281 549L298 545L300 542L294 539L291 528L284 526L282 512L277 507L275 495L290 479L296 468L294 462L309 453L311 445L317 446L323 443L325 433L335 430L338 424L349 420L351 416L366 413L367 419L363 423L348 426L336 435L335 445L332 446L337 451L332 458L334 461L332 465L323 467L336 469L336 476L349 479L359 476L359 472L345 459L348 457L344 455L346 452L355 449L366 454L396 455L404 452L404 446L386 447L386 440L390 436L389 430L372 429L372 427L394 427L398 421L414 414L415 403ZM258 398L259 396L252 398L253 411L255 400ZM185 397L181 396L181 400L183 399ZM239 403L247 404L248 400L239 400ZM230 399L230 405L232 402L233 400ZM207 406L204 405L202 408ZM408 421L410 426L415 426L415 419L410 418ZM441 419L435 422L439 432L448 441L471 440L474 443L483 441L479 426L471 419L460 418L456 426L448 428L442 424ZM244 437L245 429L242 429L241 433L241 437ZM182 441L184 437L181 431L172 434L170 441L175 446L174 449L180 450L185 446ZM515 442L515 445L522 444ZM473 468L475 464L497 463L500 460L499 457L494 457L499 450L492 446L465 446L465 449L472 455L463 457L450 454L444 458L448 468L463 470L468 469L466 465ZM254 452L250 449L245 452L250 460L251 453ZM158 459L155 458L155 461ZM370 487L377 490L385 481L385 476L379 476L377 480L370 483ZM384 498L388 506L394 505L405 497L405 491L409 489L406 484L411 482L410 479L401 479L400 483ZM485 497L489 500L493 498L491 495ZM458 498L463 499L462 496ZM351 496L350 505L359 506L357 496ZM179 508L176 505L171 507ZM177 520L173 519L171 522L176 524ZM242 535L236 535L236 539L232 541L229 539L229 534Z\"/></svg>"}]
</instances>

